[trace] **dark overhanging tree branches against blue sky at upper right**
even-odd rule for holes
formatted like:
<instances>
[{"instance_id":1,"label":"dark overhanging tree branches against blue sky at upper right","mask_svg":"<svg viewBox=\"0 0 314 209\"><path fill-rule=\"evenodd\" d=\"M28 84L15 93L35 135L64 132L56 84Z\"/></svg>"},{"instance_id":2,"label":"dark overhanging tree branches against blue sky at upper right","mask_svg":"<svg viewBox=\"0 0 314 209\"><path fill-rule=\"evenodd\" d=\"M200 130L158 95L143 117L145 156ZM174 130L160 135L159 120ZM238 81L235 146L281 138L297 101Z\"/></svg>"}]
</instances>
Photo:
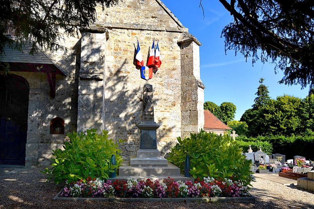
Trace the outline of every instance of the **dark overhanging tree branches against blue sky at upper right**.
<instances>
[{"instance_id":1,"label":"dark overhanging tree branches against blue sky at upper right","mask_svg":"<svg viewBox=\"0 0 314 209\"><path fill-rule=\"evenodd\" d=\"M275 63L280 83L314 85L313 0L219 0L234 21L222 31L225 50Z\"/></svg>"}]
</instances>

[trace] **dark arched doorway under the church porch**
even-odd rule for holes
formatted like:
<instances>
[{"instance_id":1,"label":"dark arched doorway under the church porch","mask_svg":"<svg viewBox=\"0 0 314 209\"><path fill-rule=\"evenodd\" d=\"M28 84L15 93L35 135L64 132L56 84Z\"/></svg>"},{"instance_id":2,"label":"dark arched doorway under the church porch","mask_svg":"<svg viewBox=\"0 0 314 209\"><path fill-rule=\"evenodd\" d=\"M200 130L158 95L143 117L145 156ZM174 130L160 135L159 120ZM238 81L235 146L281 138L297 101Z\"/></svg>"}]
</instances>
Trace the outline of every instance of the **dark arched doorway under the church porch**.
<instances>
[{"instance_id":1,"label":"dark arched doorway under the church porch","mask_svg":"<svg viewBox=\"0 0 314 209\"><path fill-rule=\"evenodd\" d=\"M0 164L25 165L29 92L25 78L0 76Z\"/></svg>"}]
</instances>

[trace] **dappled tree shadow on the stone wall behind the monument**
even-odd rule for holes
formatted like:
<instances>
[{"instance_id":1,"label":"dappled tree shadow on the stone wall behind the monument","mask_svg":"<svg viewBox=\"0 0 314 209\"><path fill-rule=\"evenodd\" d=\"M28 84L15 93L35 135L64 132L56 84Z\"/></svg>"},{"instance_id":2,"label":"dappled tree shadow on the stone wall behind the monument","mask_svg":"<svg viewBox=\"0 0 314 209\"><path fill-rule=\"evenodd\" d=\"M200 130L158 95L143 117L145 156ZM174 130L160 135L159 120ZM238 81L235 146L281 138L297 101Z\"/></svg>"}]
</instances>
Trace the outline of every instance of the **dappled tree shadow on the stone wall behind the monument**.
<instances>
[{"instance_id":1,"label":"dappled tree shadow on the stone wall behind the monument","mask_svg":"<svg viewBox=\"0 0 314 209\"><path fill-rule=\"evenodd\" d=\"M120 144L120 149L123 152L124 159L129 161L129 156L135 155L139 147L140 131L137 125L142 120L143 86L130 88L128 73L123 72L126 64L128 64L127 59L115 70L109 70L111 72L110 75L106 75L104 112L105 128L109 130L110 137L114 140L123 140L123 143ZM138 79L141 79L139 70ZM154 97L154 105L158 101ZM155 117L155 121L160 126L163 123L162 118L157 121ZM168 127L166 130L157 129L157 140L160 142L160 139L171 133L173 128ZM171 146L172 143L161 142L158 148L162 154L165 154Z\"/></svg>"}]
</instances>

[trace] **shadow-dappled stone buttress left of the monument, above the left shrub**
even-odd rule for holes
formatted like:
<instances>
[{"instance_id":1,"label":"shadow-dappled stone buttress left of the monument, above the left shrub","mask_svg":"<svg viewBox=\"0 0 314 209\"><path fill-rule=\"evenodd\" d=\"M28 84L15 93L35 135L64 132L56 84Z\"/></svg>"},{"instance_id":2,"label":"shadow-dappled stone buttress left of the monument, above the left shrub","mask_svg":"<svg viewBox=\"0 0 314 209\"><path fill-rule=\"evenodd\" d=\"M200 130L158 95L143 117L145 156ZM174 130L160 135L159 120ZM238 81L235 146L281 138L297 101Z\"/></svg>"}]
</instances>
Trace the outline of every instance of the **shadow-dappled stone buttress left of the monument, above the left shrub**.
<instances>
[{"instance_id":1,"label":"shadow-dappled stone buttress left of the monument, above the left shrub","mask_svg":"<svg viewBox=\"0 0 314 209\"><path fill-rule=\"evenodd\" d=\"M78 131L104 129L103 89L106 33L83 32L78 87Z\"/></svg>"}]
</instances>

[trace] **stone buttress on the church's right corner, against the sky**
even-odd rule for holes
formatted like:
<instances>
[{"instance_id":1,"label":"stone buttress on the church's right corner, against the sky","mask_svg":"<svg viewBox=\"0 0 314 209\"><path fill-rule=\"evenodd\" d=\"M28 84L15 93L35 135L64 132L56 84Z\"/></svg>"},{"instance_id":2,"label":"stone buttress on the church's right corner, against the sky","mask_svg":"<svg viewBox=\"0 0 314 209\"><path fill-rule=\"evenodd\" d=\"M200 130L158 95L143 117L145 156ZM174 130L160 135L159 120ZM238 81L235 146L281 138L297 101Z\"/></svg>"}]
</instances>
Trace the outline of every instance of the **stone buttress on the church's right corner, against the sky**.
<instances>
[{"instance_id":1,"label":"stone buttress on the church's right corner, against the sky","mask_svg":"<svg viewBox=\"0 0 314 209\"><path fill-rule=\"evenodd\" d=\"M181 44L182 138L204 127L204 89L200 79L199 45L190 34L183 34Z\"/></svg>"}]
</instances>

